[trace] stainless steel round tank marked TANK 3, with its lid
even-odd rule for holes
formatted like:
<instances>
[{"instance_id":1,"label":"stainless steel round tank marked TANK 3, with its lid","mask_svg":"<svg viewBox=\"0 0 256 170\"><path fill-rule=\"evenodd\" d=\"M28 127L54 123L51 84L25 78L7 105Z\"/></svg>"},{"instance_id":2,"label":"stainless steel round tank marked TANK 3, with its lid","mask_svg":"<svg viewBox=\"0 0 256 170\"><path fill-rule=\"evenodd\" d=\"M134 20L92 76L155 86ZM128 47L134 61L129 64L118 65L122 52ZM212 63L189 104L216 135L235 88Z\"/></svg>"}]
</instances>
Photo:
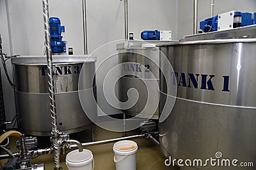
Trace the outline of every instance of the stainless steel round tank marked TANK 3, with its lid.
<instances>
[{"instance_id":1,"label":"stainless steel round tank marked TANK 3, with its lid","mask_svg":"<svg viewBox=\"0 0 256 170\"><path fill-rule=\"evenodd\" d=\"M86 117L80 104L78 80L79 75L86 72L83 73L86 81L79 85L79 90L96 89L95 83L92 84L96 58L86 55L61 55L52 56L52 60L59 129L68 133L83 131L90 127L92 122ZM35 136L49 136L52 120L46 57L12 58L12 64L19 129ZM95 113L96 111L97 108Z\"/></svg>"}]
</instances>

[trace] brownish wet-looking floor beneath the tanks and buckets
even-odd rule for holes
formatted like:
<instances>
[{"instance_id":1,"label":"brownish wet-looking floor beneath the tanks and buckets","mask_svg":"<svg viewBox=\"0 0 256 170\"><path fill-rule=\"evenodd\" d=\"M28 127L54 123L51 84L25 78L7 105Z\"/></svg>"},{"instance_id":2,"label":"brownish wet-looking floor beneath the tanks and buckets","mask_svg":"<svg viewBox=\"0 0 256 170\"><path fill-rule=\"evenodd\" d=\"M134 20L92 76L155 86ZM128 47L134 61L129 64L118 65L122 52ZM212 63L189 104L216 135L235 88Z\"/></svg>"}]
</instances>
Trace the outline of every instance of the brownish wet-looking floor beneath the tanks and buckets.
<instances>
[{"instance_id":1,"label":"brownish wet-looking floor beneath the tanks and buckets","mask_svg":"<svg viewBox=\"0 0 256 170\"><path fill-rule=\"evenodd\" d=\"M136 131L128 132L127 135L131 135L136 133ZM70 138L78 139L79 141L85 142L90 141L90 138L86 138L86 136L90 136L90 131L83 131L77 134L72 134ZM100 139L110 139L110 138L118 138L122 137L122 133L116 132L109 132L103 129L97 128L95 131L95 140ZM48 140L48 138L40 139L40 143L47 143L44 140ZM138 152L137 152L137 169L147 169L147 170L174 170L179 169L178 167L166 167L164 166L164 160L166 159L161 152L159 146L154 144L152 141L145 140L145 139L132 139L136 141L138 144ZM95 160L95 170L108 170L108 169L115 169L115 162L113 160L114 153L113 153L113 145L114 143L108 143L104 145L96 145L96 146L89 146L86 149L91 150L93 153L93 159ZM17 152L15 147L15 138L11 138L10 147L12 148L13 152ZM4 152L0 152L3 154ZM5 154L5 153L4 153ZM65 155L61 155L61 166L63 169L67 169L65 164ZM33 164L42 163L45 164L45 169L53 169L54 168L54 157L53 154L43 155L33 160ZM0 160L2 166L6 160Z\"/></svg>"}]
</instances>

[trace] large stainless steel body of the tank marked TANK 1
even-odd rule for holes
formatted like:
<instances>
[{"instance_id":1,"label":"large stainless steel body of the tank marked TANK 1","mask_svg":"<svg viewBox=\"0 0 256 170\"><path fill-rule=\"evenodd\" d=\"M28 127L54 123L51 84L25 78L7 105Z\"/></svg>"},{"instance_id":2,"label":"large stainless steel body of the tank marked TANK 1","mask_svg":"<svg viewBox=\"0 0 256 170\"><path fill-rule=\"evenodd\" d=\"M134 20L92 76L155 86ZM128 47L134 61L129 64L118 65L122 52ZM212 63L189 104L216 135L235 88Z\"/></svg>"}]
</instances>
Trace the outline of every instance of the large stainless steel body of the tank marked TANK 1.
<instances>
[{"instance_id":1,"label":"large stainless steel body of the tank marked TANK 1","mask_svg":"<svg viewBox=\"0 0 256 170\"><path fill-rule=\"evenodd\" d=\"M205 164L211 157L217 160L215 154L221 152L221 159L256 164L255 47L256 39L186 41L160 47L174 70L167 83L177 86L173 110L159 123L166 157L202 159ZM165 83L161 74L161 101L168 95ZM210 163L182 168L223 169Z\"/></svg>"}]
</instances>

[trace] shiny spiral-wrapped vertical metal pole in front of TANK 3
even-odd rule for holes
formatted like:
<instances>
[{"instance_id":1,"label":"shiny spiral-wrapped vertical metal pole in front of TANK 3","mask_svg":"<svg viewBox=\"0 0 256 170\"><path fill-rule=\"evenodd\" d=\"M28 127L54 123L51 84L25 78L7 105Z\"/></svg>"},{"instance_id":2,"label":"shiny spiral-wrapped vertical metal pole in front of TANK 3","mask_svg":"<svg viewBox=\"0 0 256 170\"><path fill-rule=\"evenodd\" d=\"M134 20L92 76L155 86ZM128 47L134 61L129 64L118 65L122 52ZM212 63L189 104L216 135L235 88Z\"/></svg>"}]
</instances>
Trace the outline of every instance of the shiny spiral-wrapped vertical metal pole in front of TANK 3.
<instances>
[{"instance_id":1,"label":"shiny spiral-wrapped vertical metal pole in front of TANK 3","mask_svg":"<svg viewBox=\"0 0 256 170\"><path fill-rule=\"evenodd\" d=\"M48 0L43 0L43 11L44 11L44 32L45 32L45 46L47 55L47 71L48 71L48 86L49 86L49 97L51 106L51 117L52 117L52 143L54 147L54 169L61 169L60 166L60 145L58 144L58 126L57 126L57 115L56 115L56 103L54 94L54 80L52 71L52 53L51 53L51 34L49 25L49 8Z\"/></svg>"}]
</instances>

